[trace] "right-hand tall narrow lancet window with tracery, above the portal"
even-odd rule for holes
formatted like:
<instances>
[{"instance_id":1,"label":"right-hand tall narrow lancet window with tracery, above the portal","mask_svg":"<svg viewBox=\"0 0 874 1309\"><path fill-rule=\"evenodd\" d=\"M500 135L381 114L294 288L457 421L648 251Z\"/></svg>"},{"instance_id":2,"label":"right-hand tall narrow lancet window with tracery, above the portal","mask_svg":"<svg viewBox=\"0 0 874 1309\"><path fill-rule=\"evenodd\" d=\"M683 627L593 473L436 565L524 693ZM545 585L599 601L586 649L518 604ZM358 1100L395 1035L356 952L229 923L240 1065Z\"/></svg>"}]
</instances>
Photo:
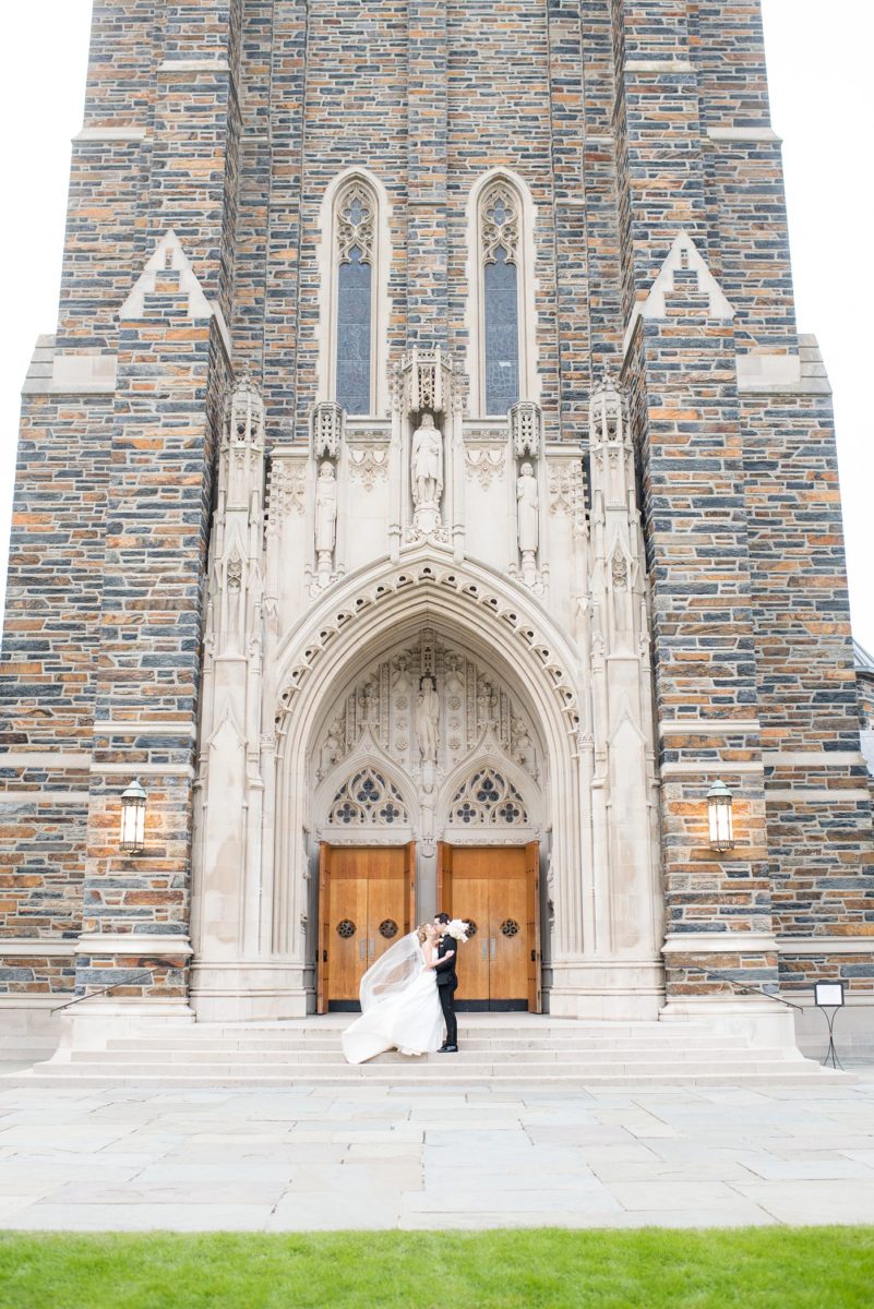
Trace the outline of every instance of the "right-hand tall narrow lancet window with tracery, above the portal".
<instances>
[{"instance_id":1,"label":"right-hand tall narrow lancet window with tracery, above the portal","mask_svg":"<svg viewBox=\"0 0 874 1309\"><path fill-rule=\"evenodd\" d=\"M479 223L487 414L506 414L519 399L519 199L498 179L483 194Z\"/></svg>"}]
</instances>

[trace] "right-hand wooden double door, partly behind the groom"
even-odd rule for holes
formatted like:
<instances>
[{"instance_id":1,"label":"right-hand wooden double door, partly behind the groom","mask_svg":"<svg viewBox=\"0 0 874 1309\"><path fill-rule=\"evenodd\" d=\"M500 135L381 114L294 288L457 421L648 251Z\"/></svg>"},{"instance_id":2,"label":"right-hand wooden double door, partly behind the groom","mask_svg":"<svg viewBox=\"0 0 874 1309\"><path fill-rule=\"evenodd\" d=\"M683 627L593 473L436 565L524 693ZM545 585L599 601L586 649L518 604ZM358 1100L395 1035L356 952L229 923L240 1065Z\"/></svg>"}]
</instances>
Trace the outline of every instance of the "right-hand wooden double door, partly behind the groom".
<instances>
[{"instance_id":1,"label":"right-hand wooden double door, partly behind the groom","mask_svg":"<svg viewBox=\"0 0 874 1309\"><path fill-rule=\"evenodd\" d=\"M471 923L458 953L458 1009L540 1012L538 843L437 847L437 908Z\"/></svg>"}]
</instances>

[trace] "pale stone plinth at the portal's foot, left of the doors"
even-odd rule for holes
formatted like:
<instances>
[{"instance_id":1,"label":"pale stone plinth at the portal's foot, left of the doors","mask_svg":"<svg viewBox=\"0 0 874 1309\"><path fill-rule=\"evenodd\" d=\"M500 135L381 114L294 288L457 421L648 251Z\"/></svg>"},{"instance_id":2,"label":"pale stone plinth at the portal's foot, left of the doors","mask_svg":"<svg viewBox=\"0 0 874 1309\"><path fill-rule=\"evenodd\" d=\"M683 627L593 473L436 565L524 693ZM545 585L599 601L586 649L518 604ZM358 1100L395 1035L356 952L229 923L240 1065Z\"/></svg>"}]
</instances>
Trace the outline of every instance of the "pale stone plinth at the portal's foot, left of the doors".
<instances>
[{"instance_id":1,"label":"pale stone plinth at the portal's foot, left of the doors","mask_svg":"<svg viewBox=\"0 0 874 1309\"><path fill-rule=\"evenodd\" d=\"M287 961L207 962L191 966L191 1004L199 1022L272 1022L315 1009L313 969Z\"/></svg>"}]
</instances>

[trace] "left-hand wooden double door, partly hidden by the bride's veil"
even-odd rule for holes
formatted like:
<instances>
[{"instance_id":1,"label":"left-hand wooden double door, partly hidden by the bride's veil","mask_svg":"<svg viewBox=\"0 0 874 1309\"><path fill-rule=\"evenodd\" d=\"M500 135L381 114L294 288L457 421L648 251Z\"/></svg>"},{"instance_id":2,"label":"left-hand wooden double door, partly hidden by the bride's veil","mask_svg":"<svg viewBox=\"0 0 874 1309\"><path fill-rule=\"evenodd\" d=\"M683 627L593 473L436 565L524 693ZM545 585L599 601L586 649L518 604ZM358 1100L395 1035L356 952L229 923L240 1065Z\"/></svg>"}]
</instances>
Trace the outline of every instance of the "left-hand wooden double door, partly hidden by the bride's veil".
<instances>
[{"instance_id":1,"label":"left-hand wooden double door, partly hidden by the bride's veil","mask_svg":"<svg viewBox=\"0 0 874 1309\"><path fill-rule=\"evenodd\" d=\"M317 1011L358 1008L358 983L416 925L416 843L319 852Z\"/></svg>"}]
</instances>

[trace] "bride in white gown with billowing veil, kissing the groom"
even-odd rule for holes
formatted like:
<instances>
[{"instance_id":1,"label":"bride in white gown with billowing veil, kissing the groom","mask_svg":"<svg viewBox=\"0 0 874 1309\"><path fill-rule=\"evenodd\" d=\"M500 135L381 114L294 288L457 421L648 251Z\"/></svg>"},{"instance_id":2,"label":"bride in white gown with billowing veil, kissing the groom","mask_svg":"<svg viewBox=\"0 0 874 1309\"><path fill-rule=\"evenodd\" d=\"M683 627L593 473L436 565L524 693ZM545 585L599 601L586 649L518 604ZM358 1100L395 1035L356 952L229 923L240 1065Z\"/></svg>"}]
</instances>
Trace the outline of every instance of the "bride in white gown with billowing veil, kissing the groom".
<instances>
[{"instance_id":1,"label":"bride in white gown with billowing veil, kissing the groom","mask_svg":"<svg viewBox=\"0 0 874 1309\"><path fill-rule=\"evenodd\" d=\"M437 958L433 923L402 937L361 978L361 1017L343 1033L343 1054L364 1063L383 1050L421 1055L438 1050L444 1014L434 969L454 954Z\"/></svg>"}]
</instances>

